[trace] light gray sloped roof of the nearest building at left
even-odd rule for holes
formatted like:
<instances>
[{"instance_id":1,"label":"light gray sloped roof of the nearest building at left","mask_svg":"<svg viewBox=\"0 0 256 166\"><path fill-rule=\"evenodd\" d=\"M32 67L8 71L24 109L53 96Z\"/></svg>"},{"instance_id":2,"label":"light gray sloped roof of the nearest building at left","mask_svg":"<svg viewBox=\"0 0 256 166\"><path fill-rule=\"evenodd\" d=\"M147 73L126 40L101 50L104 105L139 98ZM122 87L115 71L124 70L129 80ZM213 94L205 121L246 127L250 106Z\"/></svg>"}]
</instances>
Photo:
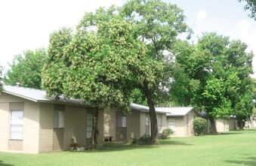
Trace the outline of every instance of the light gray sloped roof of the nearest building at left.
<instances>
[{"instance_id":1,"label":"light gray sloped roof of the nearest building at left","mask_svg":"<svg viewBox=\"0 0 256 166\"><path fill-rule=\"evenodd\" d=\"M35 102L63 102L68 104L86 104L82 100L72 99L72 98L63 98L60 96L58 100L55 98L49 97L44 90L40 89L31 89L20 86L4 86L4 91L7 94L15 95L20 98L25 98L29 101Z\"/></svg>"}]
</instances>

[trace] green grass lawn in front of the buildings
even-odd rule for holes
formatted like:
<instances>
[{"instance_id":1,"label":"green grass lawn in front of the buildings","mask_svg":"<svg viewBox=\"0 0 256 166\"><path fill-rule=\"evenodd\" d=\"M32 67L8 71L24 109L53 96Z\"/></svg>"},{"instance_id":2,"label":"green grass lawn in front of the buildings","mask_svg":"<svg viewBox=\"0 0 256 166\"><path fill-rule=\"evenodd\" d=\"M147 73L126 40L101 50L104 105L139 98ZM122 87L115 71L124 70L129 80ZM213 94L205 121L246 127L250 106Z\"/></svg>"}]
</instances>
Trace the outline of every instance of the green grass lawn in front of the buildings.
<instances>
[{"instance_id":1,"label":"green grass lawn in front of the buildings","mask_svg":"<svg viewBox=\"0 0 256 166\"><path fill-rule=\"evenodd\" d=\"M256 165L256 129L171 138L159 146L112 145L96 152L0 152L0 165Z\"/></svg>"}]
</instances>

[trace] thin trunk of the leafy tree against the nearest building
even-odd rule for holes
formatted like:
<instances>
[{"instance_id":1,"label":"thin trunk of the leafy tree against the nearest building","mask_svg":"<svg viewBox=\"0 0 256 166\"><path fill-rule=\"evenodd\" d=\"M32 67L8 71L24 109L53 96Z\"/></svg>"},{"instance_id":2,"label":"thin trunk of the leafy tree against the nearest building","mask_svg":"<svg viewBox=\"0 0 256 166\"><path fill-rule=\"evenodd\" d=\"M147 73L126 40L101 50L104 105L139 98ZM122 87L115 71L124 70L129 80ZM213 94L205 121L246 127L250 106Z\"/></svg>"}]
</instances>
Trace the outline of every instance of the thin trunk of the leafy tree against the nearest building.
<instances>
[{"instance_id":1,"label":"thin trunk of the leafy tree against the nearest building","mask_svg":"<svg viewBox=\"0 0 256 166\"><path fill-rule=\"evenodd\" d=\"M96 110L94 112L93 128L92 128L92 132L91 132L91 147L93 149L97 149L97 137L99 135L99 131L98 131L98 128L97 128L98 116L99 116L99 108L96 107Z\"/></svg>"}]
</instances>

